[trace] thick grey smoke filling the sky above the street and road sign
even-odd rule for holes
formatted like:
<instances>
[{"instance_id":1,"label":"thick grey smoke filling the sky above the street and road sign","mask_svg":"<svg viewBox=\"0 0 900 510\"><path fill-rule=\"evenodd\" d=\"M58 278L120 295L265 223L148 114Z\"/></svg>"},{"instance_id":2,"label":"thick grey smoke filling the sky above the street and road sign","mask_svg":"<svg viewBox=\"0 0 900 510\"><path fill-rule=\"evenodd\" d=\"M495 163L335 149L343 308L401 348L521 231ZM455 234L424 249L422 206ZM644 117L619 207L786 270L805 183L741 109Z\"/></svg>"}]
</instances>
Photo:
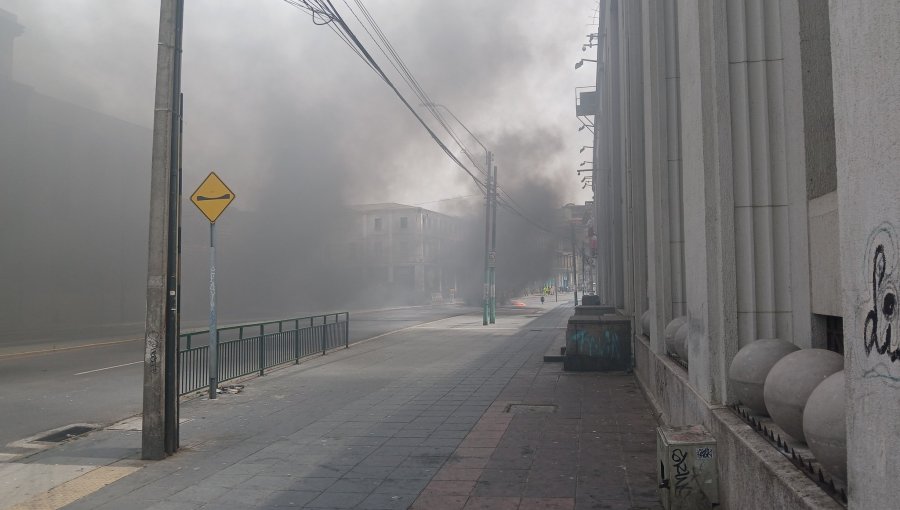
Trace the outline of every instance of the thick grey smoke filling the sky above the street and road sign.
<instances>
[{"instance_id":1,"label":"thick grey smoke filling the sky above the street and road sign","mask_svg":"<svg viewBox=\"0 0 900 510\"><path fill-rule=\"evenodd\" d=\"M0 173L4 196L10 197L4 222L21 220L5 226L3 243L24 241L23 250L41 251L40 257L23 251L6 260L8 267L24 269L23 281L7 285L14 290L0 296L0 319L7 331L42 320L62 328L139 326L158 3L59 5L0 0L0 9L18 15L25 26L15 40L10 83L47 105L59 98L71 105L63 110L86 108L105 127L79 133L77 126L51 120L45 134L57 133L64 143L48 145L47 136L0 126L16 134L7 140L17 141L4 148L15 156L6 158ZM529 217L549 221L555 208L579 199L570 170L582 143L574 139L572 118L572 89L580 83L571 64L590 31L589 3L383 0L367 6L431 98L452 108L496 153L501 186ZM330 30L274 0L187 2L185 23L185 196L211 170L238 196L218 224L223 321L352 303L358 282L334 256L355 228L349 204L425 203L459 215L472 225L471 246L460 253L483 257L476 251L483 250L483 202L434 202L477 193L471 180ZM47 106L46 116L54 115L77 116ZM10 118L3 116L0 124ZM122 121L127 129L108 125ZM111 132L127 142L107 136ZM478 145L465 140L480 160ZM84 150L88 142L91 150ZM81 182L84 195L67 218L60 222L35 211L29 194L60 194L54 187L73 182ZM110 196L122 198L98 198ZM498 285L514 292L544 277L551 259L542 244L532 242L532 226L505 210L498 222ZM108 226L97 230L98 224ZM77 257L34 241L57 231L67 232L65 242L79 244ZM206 313L207 236L207 224L185 203L183 297L189 324L202 325ZM100 256L106 253L101 247L115 247L119 254ZM475 286L482 264L465 264ZM85 294L105 297L89 305Z\"/></svg>"}]
</instances>

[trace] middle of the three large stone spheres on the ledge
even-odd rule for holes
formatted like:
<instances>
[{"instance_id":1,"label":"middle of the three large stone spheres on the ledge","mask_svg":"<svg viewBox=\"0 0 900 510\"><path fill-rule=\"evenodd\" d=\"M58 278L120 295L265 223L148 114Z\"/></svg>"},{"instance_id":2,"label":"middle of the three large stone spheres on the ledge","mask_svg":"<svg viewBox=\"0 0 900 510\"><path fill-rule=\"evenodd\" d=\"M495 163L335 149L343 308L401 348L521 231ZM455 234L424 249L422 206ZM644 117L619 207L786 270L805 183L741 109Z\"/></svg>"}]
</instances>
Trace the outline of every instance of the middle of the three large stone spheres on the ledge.
<instances>
[{"instance_id":1,"label":"middle of the three large stone spheres on the ledge","mask_svg":"<svg viewBox=\"0 0 900 510\"><path fill-rule=\"evenodd\" d=\"M775 423L794 439L803 435L806 400L826 377L844 368L844 357L825 349L801 349L781 358L763 387L766 409Z\"/></svg>"}]
</instances>

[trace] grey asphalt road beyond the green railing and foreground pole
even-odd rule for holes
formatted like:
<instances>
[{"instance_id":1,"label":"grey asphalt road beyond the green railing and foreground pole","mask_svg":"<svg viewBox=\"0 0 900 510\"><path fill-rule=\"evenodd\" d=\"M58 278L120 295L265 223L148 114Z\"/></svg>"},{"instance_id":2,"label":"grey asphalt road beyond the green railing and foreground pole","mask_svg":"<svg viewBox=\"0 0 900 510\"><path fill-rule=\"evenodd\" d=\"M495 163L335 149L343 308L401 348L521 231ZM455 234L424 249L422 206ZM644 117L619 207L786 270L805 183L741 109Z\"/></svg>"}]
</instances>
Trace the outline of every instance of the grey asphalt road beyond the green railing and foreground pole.
<instances>
[{"instance_id":1,"label":"grey asphalt road beyond the green railing and foreground pole","mask_svg":"<svg viewBox=\"0 0 900 510\"><path fill-rule=\"evenodd\" d=\"M351 342L471 309L429 306L356 312ZM74 423L108 425L141 411L143 341L104 339L64 349L0 352L0 456L10 443Z\"/></svg>"}]
</instances>

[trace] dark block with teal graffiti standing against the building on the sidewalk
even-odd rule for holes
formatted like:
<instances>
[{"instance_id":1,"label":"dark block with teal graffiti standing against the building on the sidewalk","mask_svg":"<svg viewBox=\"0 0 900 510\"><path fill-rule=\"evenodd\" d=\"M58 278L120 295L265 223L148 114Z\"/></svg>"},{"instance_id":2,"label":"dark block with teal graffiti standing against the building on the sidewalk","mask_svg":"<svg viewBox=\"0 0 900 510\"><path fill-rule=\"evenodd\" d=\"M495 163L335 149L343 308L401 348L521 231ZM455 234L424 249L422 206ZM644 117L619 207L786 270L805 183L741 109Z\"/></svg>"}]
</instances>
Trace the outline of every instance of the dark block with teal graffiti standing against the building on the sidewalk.
<instances>
[{"instance_id":1,"label":"dark block with teal graffiti standing against the building on the sidewalk","mask_svg":"<svg viewBox=\"0 0 900 510\"><path fill-rule=\"evenodd\" d=\"M629 371L631 320L607 312L607 307L576 307L566 327L563 369L575 372Z\"/></svg>"}]
</instances>

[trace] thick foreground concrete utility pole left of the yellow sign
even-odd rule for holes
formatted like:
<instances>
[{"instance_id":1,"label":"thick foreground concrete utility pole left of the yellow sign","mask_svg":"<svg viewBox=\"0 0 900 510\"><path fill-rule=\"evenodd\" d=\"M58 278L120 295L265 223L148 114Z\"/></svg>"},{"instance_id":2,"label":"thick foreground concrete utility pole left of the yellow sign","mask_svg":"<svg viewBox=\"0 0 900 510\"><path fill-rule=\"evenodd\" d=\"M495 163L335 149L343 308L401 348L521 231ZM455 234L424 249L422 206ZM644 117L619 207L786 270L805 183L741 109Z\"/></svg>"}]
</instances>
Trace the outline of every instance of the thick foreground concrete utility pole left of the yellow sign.
<instances>
[{"instance_id":1,"label":"thick foreground concrete utility pole left of the yellow sign","mask_svg":"<svg viewBox=\"0 0 900 510\"><path fill-rule=\"evenodd\" d=\"M184 0L161 0L150 171L141 456L178 448L178 211L181 29ZM174 394L174 399L172 398Z\"/></svg>"}]
</instances>

